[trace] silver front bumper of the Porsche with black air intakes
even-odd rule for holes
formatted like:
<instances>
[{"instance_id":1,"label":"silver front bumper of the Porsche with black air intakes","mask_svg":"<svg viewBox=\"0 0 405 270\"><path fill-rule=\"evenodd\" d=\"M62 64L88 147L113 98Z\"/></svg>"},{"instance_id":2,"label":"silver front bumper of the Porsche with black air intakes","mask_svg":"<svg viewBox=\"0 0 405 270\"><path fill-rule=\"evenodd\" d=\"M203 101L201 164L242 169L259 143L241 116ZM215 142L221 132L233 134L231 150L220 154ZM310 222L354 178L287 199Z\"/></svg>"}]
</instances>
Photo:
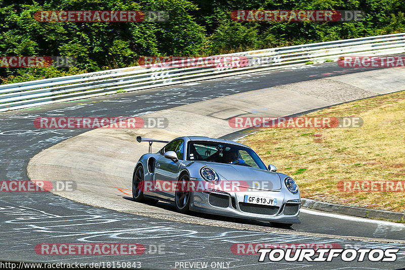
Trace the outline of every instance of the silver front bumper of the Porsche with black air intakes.
<instances>
[{"instance_id":1,"label":"silver front bumper of the Porsche with black air intakes","mask_svg":"<svg viewBox=\"0 0 405 270\"><path fill-rule=\"evenodd\" d=\"M245 203L245 195L277 199L276 206ZM248 218L262 222L301 223L299 196L277 191L193 192L190 210L222 216ZM295 201L292 201L295 200Z\"/></svg>"}]
</instances>

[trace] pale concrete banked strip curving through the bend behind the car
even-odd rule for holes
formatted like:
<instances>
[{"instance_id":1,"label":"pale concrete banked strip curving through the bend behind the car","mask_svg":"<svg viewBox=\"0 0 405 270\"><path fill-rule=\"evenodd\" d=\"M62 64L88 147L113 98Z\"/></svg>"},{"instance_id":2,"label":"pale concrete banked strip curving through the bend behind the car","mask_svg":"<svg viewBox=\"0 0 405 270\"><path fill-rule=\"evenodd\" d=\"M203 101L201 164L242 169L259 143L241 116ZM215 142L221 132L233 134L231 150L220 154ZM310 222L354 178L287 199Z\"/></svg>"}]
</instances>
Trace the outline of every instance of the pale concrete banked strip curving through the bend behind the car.
<instances>
[{"instance_id":1,"label":"pale concrete banked strip curving through the bend behind the car","mask_svg":"<svg viewBox=\"0 0 405 270\"><path fill-rule=\"evenodd\" d=\"M28 176L31 181L52 179L75 182L75 191L54 193L80 203L149 217L223 226L226 221L187 216L168 211L166 206L155 207L132 201L134 166L139 157L148 152L148 145L137 143L136 136L163 140L180 136L219 138L240 130L229 126L228 119L235 116L282 117L299 114L401 91L405 89L401 83L403 81L405 71L402 69L372 70L263 88L153 112L147 117L169 119L166 128L90 130L35 155L28 164ZM153 144L152 151L162 146ZM287 232L246 224L228 225Z\"/></svg>"}]
</instances>

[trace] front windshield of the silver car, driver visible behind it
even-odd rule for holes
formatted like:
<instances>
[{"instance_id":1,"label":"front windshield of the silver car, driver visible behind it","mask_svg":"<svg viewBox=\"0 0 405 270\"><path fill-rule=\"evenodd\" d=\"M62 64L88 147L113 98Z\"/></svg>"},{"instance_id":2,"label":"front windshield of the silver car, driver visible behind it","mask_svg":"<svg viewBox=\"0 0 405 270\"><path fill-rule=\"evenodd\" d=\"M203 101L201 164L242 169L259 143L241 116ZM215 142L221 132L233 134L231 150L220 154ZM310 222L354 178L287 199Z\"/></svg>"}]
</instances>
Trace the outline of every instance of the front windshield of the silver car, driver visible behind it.
<instances>
[{"instance_id":1,"label":"front windshield of the silver car, driver visible behind it","mask_svg":"<svg viewBox=\"0 0 405 270\"><path fill-rule=\"evenodd\" d=\"M187 160L234 164L267 170L259 156L248 147L209 141L188 143Z\"/></svg>"}]
</instances>

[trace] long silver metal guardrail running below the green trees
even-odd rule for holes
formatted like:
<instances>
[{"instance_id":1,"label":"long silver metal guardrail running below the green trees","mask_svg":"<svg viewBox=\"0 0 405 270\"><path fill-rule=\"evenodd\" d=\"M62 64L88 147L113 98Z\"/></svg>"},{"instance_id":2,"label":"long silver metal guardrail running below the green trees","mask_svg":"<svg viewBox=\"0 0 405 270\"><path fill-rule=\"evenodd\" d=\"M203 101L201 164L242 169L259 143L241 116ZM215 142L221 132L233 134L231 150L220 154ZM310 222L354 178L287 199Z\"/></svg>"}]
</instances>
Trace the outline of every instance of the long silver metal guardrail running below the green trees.
<instances>
[{"instance_id":1,"label":"long silver metal guardrail running below the green trees","mask_svg":"<svg viewBox=\"0 0 405 270\"><path fill-rule=\"evenodd\" d=\"M244 56L243 67L128 67L71 76L0 85L0 112L55 102L115 94L251 72L294 67L308 61L336 61L340 56L400 54L405 33L360 37L221 55ZM220 57L220 56L216 56ZM258 64L263 58L271 63ZM259 59L259 60L258 60ZM226 64L226 62L225 62Z\"/></svg>"}]
</instances>

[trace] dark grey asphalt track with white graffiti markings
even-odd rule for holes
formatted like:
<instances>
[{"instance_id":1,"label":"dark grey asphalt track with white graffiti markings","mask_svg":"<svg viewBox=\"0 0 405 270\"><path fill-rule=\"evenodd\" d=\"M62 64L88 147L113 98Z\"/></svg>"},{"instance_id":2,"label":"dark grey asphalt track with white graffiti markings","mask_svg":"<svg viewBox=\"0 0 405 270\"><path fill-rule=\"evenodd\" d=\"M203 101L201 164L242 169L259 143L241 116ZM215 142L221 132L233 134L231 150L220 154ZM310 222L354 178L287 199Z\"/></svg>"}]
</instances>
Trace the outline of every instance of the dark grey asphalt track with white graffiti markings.
<instances>
[{"instance_id":1,"label":"dark grey asphalt track with white graffiti markings","mask_svg":"<svg viewBox=\"0 0 405 270\"><path fill-rule=\"evenodd\" d=\"M343 69L336 63L303 66L244 76L159 87L151 90L104 96L73 102L11 111L0 114L0 180L26 180L30 158L87 129L36 129L37 117L135 117L162 109L174 108L207 99L223 97L265 87L372 70ZM141 101L141 102L135 102ZM233 138L235 139L235 138ZM135 143L135 138L134 138ZM130 185L130 180L129 180ZM170 207L168 208L170 211ZM210 218L221 220L220 217ZM83 205L52 193L0 193L0 258L18 261L52 262L140 262L142 268L174 268L179 261L229 262L229 268L272 269L310 268L341 269L343 267L395 269L403 267L405 227L386 221L325 215L304 209L301 224L289 234L234 230L150 218ZM232 220L233 222L246 222ZM248 221L249 222L249 221ZM261 226L268 226L260 224ZM294 231L297 234L294 234ZM298 234L335 235L316 237ZM343 236L343 237L342 237ZM347 237L346 237L347 236ZM350 236L388 239L381 243L352 241ZM401 241L402 240L402 241ZM38 255L34 247L41 243L140 243L146 247L142 255L84 256ZM257 255L233 254L233 243L337 243L342 247L401 248L396 262L258 262ZM389 243L390 242L390 243ZM397 243L395 243L397 242ZM164 254L156 254L160 245ZM218 264L220 265L220 264ZM213 268L222 268L214 265ZM225 265L227 265L225 263ZM376 267L377 265L377 267Z\"/></svg>"}]
</instances>

